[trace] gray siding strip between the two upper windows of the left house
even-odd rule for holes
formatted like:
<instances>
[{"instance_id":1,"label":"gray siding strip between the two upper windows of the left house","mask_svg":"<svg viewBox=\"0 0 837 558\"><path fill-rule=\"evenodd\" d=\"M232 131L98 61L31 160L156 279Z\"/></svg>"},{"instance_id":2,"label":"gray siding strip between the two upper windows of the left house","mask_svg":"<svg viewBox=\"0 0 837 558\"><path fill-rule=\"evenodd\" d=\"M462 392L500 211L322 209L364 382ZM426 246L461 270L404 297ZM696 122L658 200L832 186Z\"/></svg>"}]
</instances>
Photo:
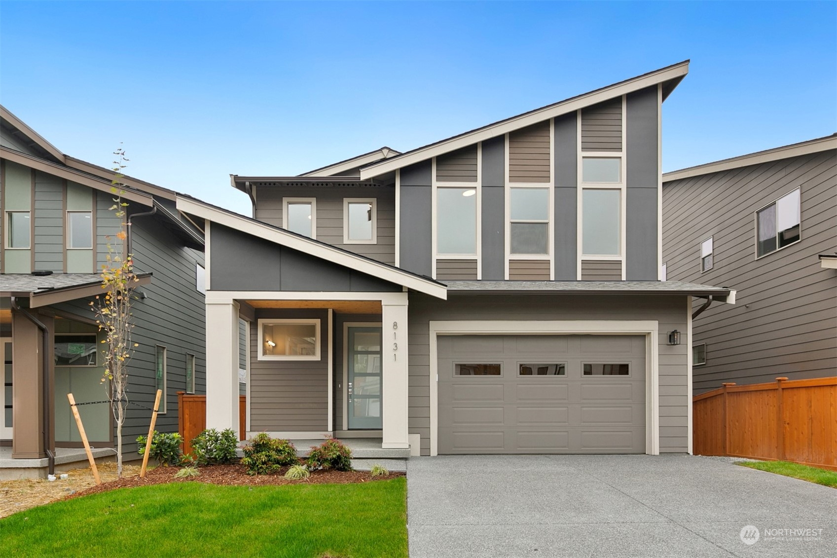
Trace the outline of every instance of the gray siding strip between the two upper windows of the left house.
<instances>
[{"instance_id":1,"label":"gray siding strip between the two upper windows of the left house","mask_svg":"<svg viewBox=\"0 0 837 558\"><path fill-rule=\"evenodd\" d=\"M64 181L35 171L35 269L64 271Z\"/></svg>"}]
</instances>

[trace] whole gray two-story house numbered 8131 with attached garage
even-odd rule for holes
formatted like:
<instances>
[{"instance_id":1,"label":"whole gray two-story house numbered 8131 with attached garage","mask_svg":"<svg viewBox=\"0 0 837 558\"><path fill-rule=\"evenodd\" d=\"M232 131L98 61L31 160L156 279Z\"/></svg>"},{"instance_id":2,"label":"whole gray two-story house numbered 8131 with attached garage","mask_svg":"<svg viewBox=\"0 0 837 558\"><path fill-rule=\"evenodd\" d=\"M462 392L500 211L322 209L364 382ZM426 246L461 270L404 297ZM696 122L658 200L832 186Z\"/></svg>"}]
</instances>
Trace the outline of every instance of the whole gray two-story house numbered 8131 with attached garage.
<instances>
[{"instance_id":1,"label":"whole gray two-story house numbered 8131 with attached garage","mask_svg":"<svg viewBox=\"0 0 837 558\"><path fill-rule=\"evenodd\" d=\"M660 110L687 71L234 175L254 219L178 196L206 233L208 426L380 455L690 452L691 299L734 292L660 282Z\"/></svg>"}]
</instances>

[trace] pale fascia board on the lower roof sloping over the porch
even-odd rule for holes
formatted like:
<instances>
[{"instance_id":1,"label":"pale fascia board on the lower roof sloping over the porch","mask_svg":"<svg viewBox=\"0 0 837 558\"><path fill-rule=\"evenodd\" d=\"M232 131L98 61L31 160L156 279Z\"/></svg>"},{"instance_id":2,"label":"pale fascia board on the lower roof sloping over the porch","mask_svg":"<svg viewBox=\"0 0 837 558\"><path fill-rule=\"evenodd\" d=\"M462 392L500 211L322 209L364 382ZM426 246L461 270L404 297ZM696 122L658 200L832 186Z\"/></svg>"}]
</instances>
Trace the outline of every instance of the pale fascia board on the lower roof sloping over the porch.
<instances>
[{"instance_id":1,"label":"pale fascia board on the lower roof sloping over the porch","mask_svg":"<svg viewBox=\"0 0 837 558\"><path fill-rule=\"evenodd\" d=\"M379 264L375 261L368 261L360 256L354 256L351 253L339 251L331 246L323 245L314 240L308 240L298 237L296 235L287 234L281 230L276 230L270 225L264 225L255 220L250 220L236 214L227 213L220 209L215 209L206 204L202 204L197 200L177 197L177 209L185 213L198 215L205 220L224 225L234 230L240 230L249 235L254 235L264 240L270 240L278 245L287 246L294 250L311 254L311 256L320 257L326 261L333 261L341 266L346 266L350 269L357 269L372 276L379 277L385 281L393 282L396 285L411 288L418 292L430 295L432 297L441 298L443 300L448 297L448 289L444 285L431 280L425 280L412 274L399 271L393 267L385 264Z\"/></svg>"}]
</instances>

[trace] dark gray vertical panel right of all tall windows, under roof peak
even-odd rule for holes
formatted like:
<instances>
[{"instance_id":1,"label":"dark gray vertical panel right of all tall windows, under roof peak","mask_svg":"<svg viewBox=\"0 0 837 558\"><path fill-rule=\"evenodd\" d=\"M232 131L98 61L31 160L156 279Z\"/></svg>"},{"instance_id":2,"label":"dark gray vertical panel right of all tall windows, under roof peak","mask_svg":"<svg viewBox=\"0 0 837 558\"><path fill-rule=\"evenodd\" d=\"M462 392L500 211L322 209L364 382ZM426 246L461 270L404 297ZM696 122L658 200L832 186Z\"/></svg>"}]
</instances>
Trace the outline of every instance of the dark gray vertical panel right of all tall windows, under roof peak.
<instances>
[{"instance_id":1,"label":"dark gray vertical panel right of all tall windows, under roof peak","mask_svg":"<svg viewBox=\"0 0 837 558\"><path fill-rule=\"evenodd\" d=\"M628 96L625 115L625 278L656 281L659 162L657 88Z\"/></svg>"}]
</instances>

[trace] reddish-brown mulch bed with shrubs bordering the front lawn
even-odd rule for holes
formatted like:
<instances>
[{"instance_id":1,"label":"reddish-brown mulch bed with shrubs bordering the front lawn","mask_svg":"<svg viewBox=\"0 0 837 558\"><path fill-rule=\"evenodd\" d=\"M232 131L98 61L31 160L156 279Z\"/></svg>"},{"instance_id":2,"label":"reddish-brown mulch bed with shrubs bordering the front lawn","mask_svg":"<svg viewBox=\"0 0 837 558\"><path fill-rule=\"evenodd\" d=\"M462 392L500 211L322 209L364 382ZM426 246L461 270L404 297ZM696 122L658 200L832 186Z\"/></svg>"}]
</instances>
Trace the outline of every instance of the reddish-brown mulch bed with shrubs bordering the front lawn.
<instances>
[{"instance_id":1,"label":"reddish-brown mulch bed with shrubs bordering the front lawn","mask_svg":"<svg viewBox=\"0 0 837 558\"><path fill-rule=\"evenodd\" d=\"M198 477L175 478L174 475L180 470L177 467L157 467L146 471L146 476L140 478L138 474L131 477L119 478L108 483L101 483L98 486L86 488L77 493L67 496L66 499L79 498L88 494L106 492L115 488L129 488L136 486L151 486L152 484L166 483L208 483L221 484L226 486L267 486L283 484L352 484L368 483L377 480L388 480L389 478L403 477L404 473L393 472L388 475L372 477L368 471L312 471L311 477L305 480L289 480L285 478L287 468L281 468L278 473L270 475L249 475L245 473L242 465L208 465L198 468Z\"/></svg>"}]
</instances>

